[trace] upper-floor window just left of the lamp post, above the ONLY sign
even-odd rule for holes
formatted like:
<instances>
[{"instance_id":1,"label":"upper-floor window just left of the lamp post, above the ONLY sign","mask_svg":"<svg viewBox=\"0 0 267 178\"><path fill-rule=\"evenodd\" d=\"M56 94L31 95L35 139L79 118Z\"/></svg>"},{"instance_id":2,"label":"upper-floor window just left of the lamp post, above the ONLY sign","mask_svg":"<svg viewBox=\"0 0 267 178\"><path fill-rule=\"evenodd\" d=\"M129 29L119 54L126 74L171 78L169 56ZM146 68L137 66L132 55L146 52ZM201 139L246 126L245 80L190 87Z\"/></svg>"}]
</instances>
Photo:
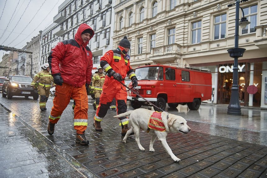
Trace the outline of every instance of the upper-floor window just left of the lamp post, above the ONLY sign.
<instances>
[{"instance_id":1,"label":"upper-floor window just left of the lamp post, above the ONLY sign","mask_svg":"<svg viewBox=\"0 0 267 178\"><path fill-rule=\"evenodd\" d=\"M215 16L214 39L226 38L226 14Z\"/></svg>"}]
</instances>

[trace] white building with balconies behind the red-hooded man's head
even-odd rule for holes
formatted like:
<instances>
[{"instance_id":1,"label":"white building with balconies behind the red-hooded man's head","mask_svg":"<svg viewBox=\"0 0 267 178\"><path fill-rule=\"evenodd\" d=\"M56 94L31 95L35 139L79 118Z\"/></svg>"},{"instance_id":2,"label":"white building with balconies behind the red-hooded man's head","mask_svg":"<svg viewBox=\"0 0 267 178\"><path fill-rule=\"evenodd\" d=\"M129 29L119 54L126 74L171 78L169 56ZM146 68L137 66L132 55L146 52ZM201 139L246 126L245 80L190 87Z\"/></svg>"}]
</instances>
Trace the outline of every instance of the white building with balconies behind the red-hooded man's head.
<instances>
[{"instance_id":1,"label":"white building with balconies behind the red-hooded man's head","mask_svg":"<svg viewBox=\"0 0 267 178\"><path fill-rule=\"evenodd\" d=\"M113 0L114 1L114 0ZM112 0L66 0L58 7L53 24L43 30L39 64L47 62L51 49L60 41L74 38L79 25L88 24L95 32L88 47L93 53L93 69L100 57L112 49L114 12Z\"/></svg>"}]
</instances>

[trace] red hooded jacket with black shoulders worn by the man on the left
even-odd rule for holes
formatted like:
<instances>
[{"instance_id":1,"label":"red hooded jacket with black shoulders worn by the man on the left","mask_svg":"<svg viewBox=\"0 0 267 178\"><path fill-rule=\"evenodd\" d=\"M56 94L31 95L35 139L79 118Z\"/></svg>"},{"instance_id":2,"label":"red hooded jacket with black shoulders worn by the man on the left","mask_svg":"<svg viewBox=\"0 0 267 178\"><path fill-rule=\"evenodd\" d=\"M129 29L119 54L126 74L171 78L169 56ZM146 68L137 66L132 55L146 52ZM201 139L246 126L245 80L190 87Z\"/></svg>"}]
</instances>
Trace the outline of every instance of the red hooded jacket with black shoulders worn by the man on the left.
<instances>
[{"instance_id":1,"label":"red hooded jacket with black shoulders worn by the man on the left","mask_svg":"<svg viewBox=\"0 0 267 178\"><path fill-rule=\"evenodd\" d=\"M75 87L90 84L93 68L93 54L83 42L81 34L85 29L91 29L87 24L81 24L75 34L75 39L68 39L57 43L48 56L48 63L52 75L60 73L64 83ZM90 40L89 39L89 40Z\"/></svg>"}]
</instances>

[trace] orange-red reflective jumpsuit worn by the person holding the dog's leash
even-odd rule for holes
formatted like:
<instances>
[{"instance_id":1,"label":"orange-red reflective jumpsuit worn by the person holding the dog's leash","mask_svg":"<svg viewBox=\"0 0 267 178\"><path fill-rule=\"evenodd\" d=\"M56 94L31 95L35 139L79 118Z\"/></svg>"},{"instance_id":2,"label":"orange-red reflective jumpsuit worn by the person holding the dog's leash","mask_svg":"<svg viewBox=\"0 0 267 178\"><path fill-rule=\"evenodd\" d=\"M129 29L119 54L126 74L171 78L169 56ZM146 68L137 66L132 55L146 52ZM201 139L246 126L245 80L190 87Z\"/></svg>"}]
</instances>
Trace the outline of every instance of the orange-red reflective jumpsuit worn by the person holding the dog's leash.
<instances>
[{"instance_id":1,"label":"orange-red reflective jumpsuit worn by the person holding the dog's leash","mask_svg":"<svg viewBox=\"0 0 267 178\"><path fill-rule=\"evenodd\" d=\"M122 51L124 48L120 47ZM118 50L107 51L100 59L100 66L107 72L106 79L102 88L102 94L100 96L100 103L97 108L94 120L102 121L105 117L107 110L111 105L113 98L116 100L117 113L125 113L127 111L127 92L126 88L117 80L108 74L109 70L114 70L116 73L120 73L122 78L129 76L129 78L135 77L134 70L130 66L129 59L125 59L124 56ZM124 81L121 81L124 83ZM129 123L128 118L119 118L120 126Z\"/></svg>"}]
</instances>

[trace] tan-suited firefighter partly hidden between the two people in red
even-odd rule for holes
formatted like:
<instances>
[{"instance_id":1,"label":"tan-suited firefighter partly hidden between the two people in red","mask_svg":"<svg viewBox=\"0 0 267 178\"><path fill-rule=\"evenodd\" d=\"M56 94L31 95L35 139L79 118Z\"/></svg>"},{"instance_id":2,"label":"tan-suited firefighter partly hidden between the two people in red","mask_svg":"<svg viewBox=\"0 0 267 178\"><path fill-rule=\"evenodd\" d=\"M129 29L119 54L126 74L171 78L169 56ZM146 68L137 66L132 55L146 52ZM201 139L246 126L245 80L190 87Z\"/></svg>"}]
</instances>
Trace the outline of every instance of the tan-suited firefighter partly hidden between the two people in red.
<instances>
[{"instance_id":1,"label":"tan-suited firefighter partly hidden between the two people in red","mask_svg":"<svg viewBox=\"0 0 267 178\"><path fill-rule=\"evenodd\" d=\"M103 68L99 66L97 66L97 71L95 72L95 74L93 75L92 78L92 86L91 86L91 90L94 91L95 94L95 102L93 103L93 108L94 110L97 110L98 105L99 105L99 99L100 99L100 95L102 93L102 87L105 81L105 75L103 73Z\"/></svg>"}]
</instances>

